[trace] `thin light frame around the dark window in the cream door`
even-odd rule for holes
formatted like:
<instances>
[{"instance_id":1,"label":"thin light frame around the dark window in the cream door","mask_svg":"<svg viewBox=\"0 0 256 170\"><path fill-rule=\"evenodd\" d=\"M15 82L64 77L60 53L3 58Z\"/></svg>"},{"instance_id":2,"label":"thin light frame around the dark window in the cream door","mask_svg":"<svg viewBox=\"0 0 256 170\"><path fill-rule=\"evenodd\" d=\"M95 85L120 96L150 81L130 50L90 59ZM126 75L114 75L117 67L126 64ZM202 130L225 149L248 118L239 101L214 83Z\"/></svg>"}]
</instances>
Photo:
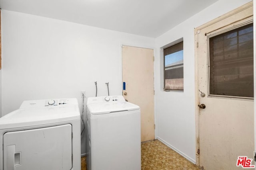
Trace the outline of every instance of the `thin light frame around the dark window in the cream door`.
<instances>
[{"instance_id":1,"label":"thin light frame around the dark window in the cream door","mask_svg":"<svg viewBox=\"0 0 256 170\"><path fill-rule=\"evenodd\" d=\"M224 27L222 29L215 30L210 33L205 33L205 36L207 37L207 63L208 63L208 70L207 70L207 90L208 90L208 97L209 98L229 98L234 100L254 100L254 97L244 97L244 96L227 96L227 95L217 95L217 94L210 94L210 38L215 37L217 35L220 35L222 33L226 33L228 31L232 31L234 29L238 29L240 27L246 26L253 23L253 19L243 20L236 24L233 24L232 26ZM255 73L254 73L255 74Z\"/></svg>"}]
</instances>

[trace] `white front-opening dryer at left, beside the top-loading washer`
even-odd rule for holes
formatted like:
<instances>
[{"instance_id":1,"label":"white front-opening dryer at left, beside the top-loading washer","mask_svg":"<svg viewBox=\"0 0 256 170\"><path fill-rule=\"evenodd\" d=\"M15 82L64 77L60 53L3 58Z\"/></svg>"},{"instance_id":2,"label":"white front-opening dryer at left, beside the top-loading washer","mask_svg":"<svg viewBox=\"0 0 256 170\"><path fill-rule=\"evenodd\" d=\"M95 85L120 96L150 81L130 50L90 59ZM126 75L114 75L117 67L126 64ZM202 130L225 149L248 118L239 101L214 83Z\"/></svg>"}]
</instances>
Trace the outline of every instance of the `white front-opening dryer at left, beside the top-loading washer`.
<instances>
[{"instance_id":1,"label":"white front-opening dryer at left, beside the top-loading washer","mask_svg":"<svg viewBox=\"0 0 256 170\"><path fill-rule=\"evenodd\" d=\"M77 99L24 101L0 118L0 170L80 170Z\"/></svg>"}]
</instances>

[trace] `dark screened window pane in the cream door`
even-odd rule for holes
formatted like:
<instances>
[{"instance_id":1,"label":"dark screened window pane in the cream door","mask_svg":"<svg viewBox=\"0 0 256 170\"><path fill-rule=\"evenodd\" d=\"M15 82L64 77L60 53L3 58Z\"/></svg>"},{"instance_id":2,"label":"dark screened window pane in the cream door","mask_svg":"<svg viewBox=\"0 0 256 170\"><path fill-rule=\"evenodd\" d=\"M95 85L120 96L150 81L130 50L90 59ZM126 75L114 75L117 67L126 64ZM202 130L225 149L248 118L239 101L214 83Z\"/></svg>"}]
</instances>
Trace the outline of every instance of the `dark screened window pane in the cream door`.
<instances>
[{"instance_id":1,"label":"dark screened window pane in the cream door","mask_svg":"<svg viewBox=\"0 0 256 170\"><path fill-rule=\"evenodd\" d=\"M210 95L253 98L253 24L209 40Z\"/></svg>"}]
</instances>

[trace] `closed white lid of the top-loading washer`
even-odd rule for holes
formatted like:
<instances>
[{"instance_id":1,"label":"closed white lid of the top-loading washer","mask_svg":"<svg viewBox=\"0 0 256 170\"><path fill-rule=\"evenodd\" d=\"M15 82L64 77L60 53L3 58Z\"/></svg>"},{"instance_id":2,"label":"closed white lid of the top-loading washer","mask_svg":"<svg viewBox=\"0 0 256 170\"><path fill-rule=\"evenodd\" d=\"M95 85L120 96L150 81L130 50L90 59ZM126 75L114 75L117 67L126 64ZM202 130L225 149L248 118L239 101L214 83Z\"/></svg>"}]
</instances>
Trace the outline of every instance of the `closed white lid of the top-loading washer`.
<instances>
[{"instance_id":1,"label":"closed white lid of the top-loading washer","mask_svg":"<svg viewBox=\"0 0 256 170\"><path fill-rule=\"evenodd\" d=\"M108 114L117 111L131 111L140 109L139 106L129 102L97 103L87 105L92 115Z\"/></svg>"}]
</instances>

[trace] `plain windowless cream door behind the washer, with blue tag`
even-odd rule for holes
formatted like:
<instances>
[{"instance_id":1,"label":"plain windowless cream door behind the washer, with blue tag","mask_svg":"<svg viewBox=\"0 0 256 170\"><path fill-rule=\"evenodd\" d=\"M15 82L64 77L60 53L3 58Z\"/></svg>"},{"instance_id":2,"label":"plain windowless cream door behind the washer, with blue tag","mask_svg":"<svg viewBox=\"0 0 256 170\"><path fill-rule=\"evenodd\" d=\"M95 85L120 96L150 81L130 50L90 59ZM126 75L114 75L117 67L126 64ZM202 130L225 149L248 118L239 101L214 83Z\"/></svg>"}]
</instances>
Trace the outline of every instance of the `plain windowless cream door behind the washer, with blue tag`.
<instances>
[{"instance_id":1,"label":"plain windowless cream door behind the washer, with blue tag","mask_svg":"<svg viewBox=\"0 0 256 170\"><path fill-rule=\"evenodd\" d=\"M154 52L153 49L122 46L123 96L140 106L141 141L154 135Z\"/></svg>"}]
</instances>

